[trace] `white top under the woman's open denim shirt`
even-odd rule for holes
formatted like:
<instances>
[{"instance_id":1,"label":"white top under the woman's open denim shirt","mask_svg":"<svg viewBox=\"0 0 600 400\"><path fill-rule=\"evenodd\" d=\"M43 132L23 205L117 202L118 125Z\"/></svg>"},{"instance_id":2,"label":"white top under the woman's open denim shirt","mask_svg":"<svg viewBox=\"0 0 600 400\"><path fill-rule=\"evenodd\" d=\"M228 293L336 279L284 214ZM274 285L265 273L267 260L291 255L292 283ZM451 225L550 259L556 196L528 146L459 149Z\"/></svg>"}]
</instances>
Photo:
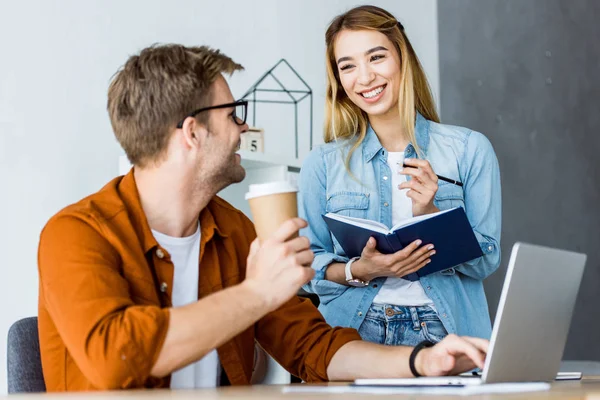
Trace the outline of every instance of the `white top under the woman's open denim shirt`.
<instances>
[{"instance_id":1,"label":"white top under the woman's open denim shirt","mask_svg":"<svg viewBox=\"0 0 600 400\"><path fill-rule=\"evenodd\" d=\"M406 175L399 174L404 162L404 152L388 152L388 165L392 173L392 225L411 218L412 200L406 197L408 189L398 189L398 185L406 181ZM397 306L433 306L433 301L425 294L421 282L388 277L373 299L376 304L393 304Z\"/></svg>"}]
</instances>

